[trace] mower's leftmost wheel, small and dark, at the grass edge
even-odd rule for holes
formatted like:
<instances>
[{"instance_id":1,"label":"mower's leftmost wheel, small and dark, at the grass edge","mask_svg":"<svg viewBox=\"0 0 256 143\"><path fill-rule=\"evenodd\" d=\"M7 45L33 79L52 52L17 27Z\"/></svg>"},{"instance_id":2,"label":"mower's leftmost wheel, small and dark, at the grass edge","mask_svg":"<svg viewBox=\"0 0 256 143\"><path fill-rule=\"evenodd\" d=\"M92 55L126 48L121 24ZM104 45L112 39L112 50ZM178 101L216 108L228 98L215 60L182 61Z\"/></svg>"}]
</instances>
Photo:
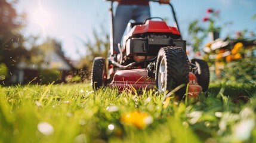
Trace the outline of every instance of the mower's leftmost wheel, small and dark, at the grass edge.
<instances>
[{"instance_id":1,"label":"mower's leftmost wheel, small and dark, at the grass edge","mask_svg":"<svg viewBox=\"0 0 256 143\"><path fill-rule=\"evenodd\" d=\"M94 90L104 86L106 77L106 63L104 57L94 58L91 71L91 85Z\"/></svg>"}]
</instances>

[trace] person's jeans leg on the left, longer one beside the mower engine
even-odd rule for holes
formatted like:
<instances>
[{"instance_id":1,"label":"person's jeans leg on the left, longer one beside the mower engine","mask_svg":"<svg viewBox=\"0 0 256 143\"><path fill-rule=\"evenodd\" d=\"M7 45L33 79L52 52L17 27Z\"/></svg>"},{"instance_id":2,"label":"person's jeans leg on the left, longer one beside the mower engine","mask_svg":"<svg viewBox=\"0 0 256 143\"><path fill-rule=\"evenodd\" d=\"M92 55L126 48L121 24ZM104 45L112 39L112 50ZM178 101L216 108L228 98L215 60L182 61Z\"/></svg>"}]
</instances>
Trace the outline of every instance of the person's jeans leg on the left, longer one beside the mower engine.
<instances>
[{"instance_id":1,"label":"person's jeans leg on the left, longer one beside the mower engine","mask_svg":"<svg viewBox=\"0 0 256 143\"><path fill-rule=\"evenodd\" d=\"M113 46L116 54L119 54L118 43L121 43L122 36L132 16L132 5L118 5L114 17L114 39Z\"/></svg>"}]
</instances>

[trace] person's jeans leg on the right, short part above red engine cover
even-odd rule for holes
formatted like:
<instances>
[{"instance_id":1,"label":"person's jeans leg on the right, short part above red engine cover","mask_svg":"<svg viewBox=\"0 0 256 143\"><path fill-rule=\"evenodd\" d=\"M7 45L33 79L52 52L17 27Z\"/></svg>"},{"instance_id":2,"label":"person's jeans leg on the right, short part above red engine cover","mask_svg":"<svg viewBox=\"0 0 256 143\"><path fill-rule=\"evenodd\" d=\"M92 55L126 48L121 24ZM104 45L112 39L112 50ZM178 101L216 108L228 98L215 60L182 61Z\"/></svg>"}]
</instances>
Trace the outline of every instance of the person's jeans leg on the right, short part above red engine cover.
<instances>
[{"instance_id":1,"label":"person's jeans leg on the right, short part above red engine cover","mask_svg":"<svg viewBox=\"0 0 256 143\"><path fill-rule=\"evenodd\" d=\"M143 23L147 18L150 18L149 5L136 5L132 19L138 23Z\"/></svg>"}]
</instances>

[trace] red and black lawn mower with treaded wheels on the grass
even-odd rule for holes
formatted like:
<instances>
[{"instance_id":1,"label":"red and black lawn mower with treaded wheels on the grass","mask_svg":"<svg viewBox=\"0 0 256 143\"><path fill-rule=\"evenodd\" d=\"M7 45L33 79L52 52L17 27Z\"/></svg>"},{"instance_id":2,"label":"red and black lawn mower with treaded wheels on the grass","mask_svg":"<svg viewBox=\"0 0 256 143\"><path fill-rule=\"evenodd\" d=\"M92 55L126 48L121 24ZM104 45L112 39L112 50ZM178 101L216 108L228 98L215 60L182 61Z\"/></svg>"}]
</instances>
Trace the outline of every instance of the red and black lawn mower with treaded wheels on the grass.
<instances>
[{"instance_id":1,"label":"red and black lawn mower with treaded wheels on the grass","mask_svg":"<svg viewBox=\"0 0 256 143\"><path fill-rule=\"evenodd\" d=\"M113 0L110 4L110 56L94 58L91 85L94 90L104 86L128 90L158 89L166 96L174 93L182 100L187 93L197 97L209 85L209 68L205 61L186 55L186 41L181 38L178 21L171 3L176 27L168 26L161 17L144 23L128 23L129 32L123 38L122 49L113 54ZM152 1L150 2L159 2ZM121 46L121 45L120 45ZM189 85L187 88L187 85ZM187 92L188 89L188 92Z\"/></svg>"}]
</instances>

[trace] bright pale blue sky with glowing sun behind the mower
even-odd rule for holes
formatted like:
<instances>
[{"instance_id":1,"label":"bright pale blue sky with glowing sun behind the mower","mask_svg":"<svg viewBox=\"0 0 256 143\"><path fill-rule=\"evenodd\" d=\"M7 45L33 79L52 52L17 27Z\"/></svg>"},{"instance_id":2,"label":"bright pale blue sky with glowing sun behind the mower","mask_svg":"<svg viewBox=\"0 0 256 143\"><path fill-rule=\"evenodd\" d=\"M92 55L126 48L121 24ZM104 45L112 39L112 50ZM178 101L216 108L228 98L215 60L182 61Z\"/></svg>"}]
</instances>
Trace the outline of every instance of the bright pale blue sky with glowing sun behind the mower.
<instances>
[{"instance_id":1,"label":"bright pale blue sky with glowing sun behind the mower","mask_svg":"<svg viewBox=\"0 0 256 143\"><path fill-rule=\"evenodd\" d=\"M202 22L208 8L220 11L218 24L232 21L221 31L221 38L244 29L256 33L256 20L252 20L256 14L255 0L171 0L171 3L184 40L190 40L189 23ZM19 0L15 8L18 14L27 14L25 38L39 36L41 42L54 38L61 42L66 57L79 60L88 54L84 42L94 41L94 30L98 34L109 33L109 6L110 2L103 0ZM152 17L168 18L167 23L173 25L168 5L150 2L150 9Z\"/></svg>"}]
</instances>

